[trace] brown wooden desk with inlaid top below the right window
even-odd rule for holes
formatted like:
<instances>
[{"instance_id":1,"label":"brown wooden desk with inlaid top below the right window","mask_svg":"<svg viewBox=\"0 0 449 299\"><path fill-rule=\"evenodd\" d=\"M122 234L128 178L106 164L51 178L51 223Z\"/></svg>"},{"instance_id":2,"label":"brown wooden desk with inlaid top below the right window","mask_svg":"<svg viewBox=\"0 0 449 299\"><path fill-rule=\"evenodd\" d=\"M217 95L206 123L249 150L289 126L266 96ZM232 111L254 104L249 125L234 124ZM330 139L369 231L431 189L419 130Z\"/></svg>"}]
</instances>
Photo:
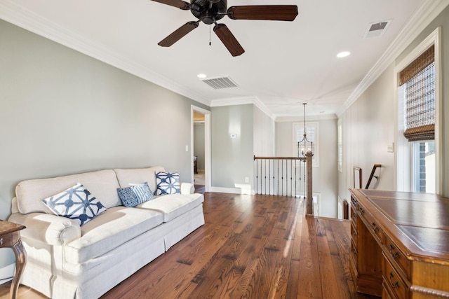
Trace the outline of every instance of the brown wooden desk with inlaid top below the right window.
<instances>
[{"instance_id":1,"label":"brown wooden desk with inlaid top below the right window","mask_svg":"<svg viewBox=\"0 0 449 299\"><path fill-rule=\"evenodd\" d=\"M449 199L349 191L357 291L390 299L449 298Z\"/></svg>"}]
</instances>

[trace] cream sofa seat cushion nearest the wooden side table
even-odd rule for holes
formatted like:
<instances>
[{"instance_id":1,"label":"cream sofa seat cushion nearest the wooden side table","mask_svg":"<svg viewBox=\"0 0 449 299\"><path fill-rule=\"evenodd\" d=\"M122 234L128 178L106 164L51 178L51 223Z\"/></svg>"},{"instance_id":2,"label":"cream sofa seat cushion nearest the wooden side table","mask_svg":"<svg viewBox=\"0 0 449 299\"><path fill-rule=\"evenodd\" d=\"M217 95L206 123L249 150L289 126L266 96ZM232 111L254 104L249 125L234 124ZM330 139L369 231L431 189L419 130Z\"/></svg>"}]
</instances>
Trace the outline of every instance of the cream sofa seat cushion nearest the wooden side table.
<instances>
[{"instance_id":1,"label":"cream sofa seat cushion nearest the wooden side table","mask_svg":"<svg viewBox=\"0 0 449 299\"><path fill-rule=\"evenodd\" d=\"M112 207L81 227L81 237L65 246L65 260L84 263L97 258L161 223L159 211Z\"/></svg>"}]
</instances>

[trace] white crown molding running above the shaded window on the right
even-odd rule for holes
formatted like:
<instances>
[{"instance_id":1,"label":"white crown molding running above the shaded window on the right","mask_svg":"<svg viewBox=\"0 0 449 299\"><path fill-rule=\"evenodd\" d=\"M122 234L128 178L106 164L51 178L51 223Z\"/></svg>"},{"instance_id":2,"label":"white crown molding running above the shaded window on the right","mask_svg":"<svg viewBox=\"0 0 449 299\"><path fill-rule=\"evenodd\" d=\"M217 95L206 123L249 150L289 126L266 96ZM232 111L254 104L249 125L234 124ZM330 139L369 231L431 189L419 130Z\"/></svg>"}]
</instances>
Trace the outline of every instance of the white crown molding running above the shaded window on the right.
<instances>
[{"instance_id":1,"label":"white crown molding running above the shaded window on the right","mask_svg":"<svg viewBox=\"0 0 449 299\"><path fill-rule=\"evenodd\" d=\"M337 111L337 117L342 116L351 104L354 104L365 90L389 67L396 58L406 50L407 46L430 24L432 20L438 16L443 9L449 5L447 0L426 0L422 6L415 11L413 16L408 20L396 39L391 43L389 48L384 52L374 67L368 71L368 74L362 79L356 89L349 95L348 99L343 103L342 107Z\"/></svg>"}]
</instances>

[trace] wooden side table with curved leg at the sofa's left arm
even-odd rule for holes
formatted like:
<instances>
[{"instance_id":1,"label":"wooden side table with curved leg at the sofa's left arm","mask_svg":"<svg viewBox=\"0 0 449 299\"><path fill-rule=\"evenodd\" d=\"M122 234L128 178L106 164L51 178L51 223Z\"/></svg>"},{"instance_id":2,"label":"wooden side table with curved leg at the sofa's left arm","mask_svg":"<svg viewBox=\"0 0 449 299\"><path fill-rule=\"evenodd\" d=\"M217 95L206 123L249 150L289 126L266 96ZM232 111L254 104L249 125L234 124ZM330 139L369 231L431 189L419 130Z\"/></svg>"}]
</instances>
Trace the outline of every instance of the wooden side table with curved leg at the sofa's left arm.
<instances>
[{"instance_id":1,"label":"wooden side table with curved leg at the sofa's left arm","mask_svg":"<svg viewBox=\"0 0 449 299\"><path fill-rule=\"evenodd\" d=\"M11 247L15 254L14 277L9 293L9 298L13 299L17 298L20 277L25 268L25 263L27 263L27 253L20 241L20 230L24 228L23 225L0 220L0 248Z\"/></svg>"}]
</instances>

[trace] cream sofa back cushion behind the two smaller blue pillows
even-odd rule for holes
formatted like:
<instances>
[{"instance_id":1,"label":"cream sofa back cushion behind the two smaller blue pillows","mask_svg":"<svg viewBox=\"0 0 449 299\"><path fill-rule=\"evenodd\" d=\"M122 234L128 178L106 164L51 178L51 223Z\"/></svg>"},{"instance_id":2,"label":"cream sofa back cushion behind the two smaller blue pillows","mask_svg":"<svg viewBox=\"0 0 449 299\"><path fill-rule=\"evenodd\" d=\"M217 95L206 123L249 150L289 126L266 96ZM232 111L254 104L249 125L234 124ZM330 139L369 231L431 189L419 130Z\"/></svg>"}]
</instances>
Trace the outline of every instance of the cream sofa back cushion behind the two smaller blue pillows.
<instances>
[{"instance_id":1,"label":"cream sofa back cushion behind the two smaller blue pillows","mask_svg":"<svg viewBox=\"0 0 449 299\"><path fill-rule=\"evenodd\" d=\"M117 174L121 188L129 187L130 184L148 183L154 193L157 189L156 172L165 172L161 166L136 169L114 169Z\"/></svg>"}]
</instances>

